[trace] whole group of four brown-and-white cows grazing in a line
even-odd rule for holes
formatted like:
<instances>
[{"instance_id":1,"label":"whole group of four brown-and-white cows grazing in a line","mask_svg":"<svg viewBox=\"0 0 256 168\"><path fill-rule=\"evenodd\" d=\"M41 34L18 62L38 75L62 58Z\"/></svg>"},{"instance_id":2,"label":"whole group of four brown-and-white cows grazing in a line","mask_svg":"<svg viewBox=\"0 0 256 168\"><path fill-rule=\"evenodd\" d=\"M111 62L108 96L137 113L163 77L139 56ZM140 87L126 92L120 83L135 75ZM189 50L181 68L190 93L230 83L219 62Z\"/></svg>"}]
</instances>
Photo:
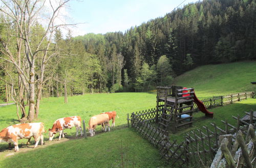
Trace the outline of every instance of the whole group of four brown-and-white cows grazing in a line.
<instances>
[{"instance_id":1,"label":"whole group of four brown-and-white cows grazing in a line","mask_svg":"<svg viewBox=\"0 0 256 168\"><path fill-rule=\"evenodd\" d=\"M112 120L112 127L115 126L115 117L116 111L110 111L101 113L99 115L91 117L89 120L89 133L91 136L95 135L95 129L97 125L105 128L108 126L108 130L110 131L109 121ZM118 117L118 116L117 116ZM82 127L81 127L81 117L80 116L72 116L66 118L60 118L53 123L52 129L49 129L49 141L52 141L54 135L59 132L59 140L62 137L65 137L63 130L67 128L76 127L76 136L78 136L78 132L80 130L82 136ZM31 137L35 139L35 147L37 147L39 141L41 140L41 145L44 144L44 135L45 133L44 123L23 123L23 124L15 124L9 127L4 128L0 132L0 143L7 142L9 143L9 148L11 147L11 143L14 144L15 151L18 151L18 139L26 138L28 139L27 145L30 144ZM35 148L34 147L34 148Z\"/></svg>"}]
</instances>

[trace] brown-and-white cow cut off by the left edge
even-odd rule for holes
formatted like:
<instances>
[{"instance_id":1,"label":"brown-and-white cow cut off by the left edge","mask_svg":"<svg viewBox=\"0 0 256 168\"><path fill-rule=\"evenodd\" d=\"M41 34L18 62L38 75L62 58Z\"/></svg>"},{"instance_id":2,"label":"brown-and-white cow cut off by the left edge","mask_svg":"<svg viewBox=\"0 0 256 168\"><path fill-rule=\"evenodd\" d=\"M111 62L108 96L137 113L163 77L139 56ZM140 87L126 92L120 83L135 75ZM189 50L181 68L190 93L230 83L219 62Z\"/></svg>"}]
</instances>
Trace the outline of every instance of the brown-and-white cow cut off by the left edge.
<instances>
[{"instance_id":1,"label":"brown-and-white cow cut off by the left edge","mask_svg":"<svg viewBox=\"0 0 256 168\"><path fill-rule=\"evenodd\" d=\"M18 139L26 138L30 141L31 137L34 137L36 142L34 148L36 148L40 139L41 145L44 144L44 135L42 135L44 132L46 132L44 123L15 124L4 128L0 132L0 142L9 143L9 147L10 143L13 143L15 151L18 151ZM29 141L27 145L29 144Z\"/></svg>"}]
</instances>

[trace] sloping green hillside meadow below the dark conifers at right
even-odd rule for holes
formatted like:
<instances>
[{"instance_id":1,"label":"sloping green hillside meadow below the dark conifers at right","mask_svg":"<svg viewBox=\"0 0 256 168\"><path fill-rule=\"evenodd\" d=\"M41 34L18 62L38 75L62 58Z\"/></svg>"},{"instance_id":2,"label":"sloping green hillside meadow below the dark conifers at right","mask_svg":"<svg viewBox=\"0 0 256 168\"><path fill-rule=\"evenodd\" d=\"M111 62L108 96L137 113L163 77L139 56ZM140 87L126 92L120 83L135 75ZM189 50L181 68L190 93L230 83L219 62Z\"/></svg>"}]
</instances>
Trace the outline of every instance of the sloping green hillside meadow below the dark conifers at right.
<instances>
[{"instance_id":1,"label":"sloping green hillside meadow below the dark conifers at right","mask_svg":"<svg viewBox=\"0 0 256 168\"><path fill-rule=\"evenodd\" d=\"M205 65L175 78L174 84L195 88L198 97L256 91L256 62Z\"/></svg>"}]
</instances>

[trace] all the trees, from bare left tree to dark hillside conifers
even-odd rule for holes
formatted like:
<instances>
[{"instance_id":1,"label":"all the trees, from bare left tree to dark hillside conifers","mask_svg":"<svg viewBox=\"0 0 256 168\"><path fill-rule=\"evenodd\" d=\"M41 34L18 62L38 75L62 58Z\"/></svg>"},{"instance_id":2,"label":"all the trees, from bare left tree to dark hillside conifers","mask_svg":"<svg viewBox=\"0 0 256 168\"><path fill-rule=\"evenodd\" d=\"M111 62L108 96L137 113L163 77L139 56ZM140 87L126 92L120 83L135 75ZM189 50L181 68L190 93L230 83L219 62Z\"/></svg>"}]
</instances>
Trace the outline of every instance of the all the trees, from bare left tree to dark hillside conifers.
<instances>
[{"instance_id":1,"label":"all the trees, from bare left tree to dark hillside conifers","mask_svg":"<svg viewBox=\"0 0 256 168\"><path fill-rule=\"evenodd\" d=\"M40 1L2 1L0 100L16 103L20 121L37 118L41 97L145 92L201 65L256 59L253 0L198 1L124 33L78 37L54 24L67 2L42 24Z\"/></svg>"}]
</instances>

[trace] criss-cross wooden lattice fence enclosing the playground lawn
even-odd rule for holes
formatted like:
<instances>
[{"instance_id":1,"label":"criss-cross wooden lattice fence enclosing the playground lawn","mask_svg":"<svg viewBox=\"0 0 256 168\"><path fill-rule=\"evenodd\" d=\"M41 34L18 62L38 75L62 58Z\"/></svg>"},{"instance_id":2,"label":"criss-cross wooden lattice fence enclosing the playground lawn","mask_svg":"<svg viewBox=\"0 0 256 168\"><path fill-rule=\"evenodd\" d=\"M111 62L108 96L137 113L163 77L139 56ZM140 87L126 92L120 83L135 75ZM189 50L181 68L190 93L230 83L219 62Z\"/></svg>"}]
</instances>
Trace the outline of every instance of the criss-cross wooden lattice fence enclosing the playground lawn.
<instances>
[{"instance_id":1,"label":"criss-cross wooden lattice fence enclosing the playground lawn","mask_svg":"<svg viewBox=\"0 0 256 168\"><path fill-rule=\"evenodd\" d=\"M246 96L246 97L245 97ZM237 98L239 97L239 99ZM239 101L244 98L253 97L253 92L244 94L231 94L229 96L219 96L202 100L206 107L214 107L225 105ZM241 99L242 98L242 99ZM225 102L225 103L224 103ZM160 110L161 113L162 110ZM162 158L168 161L172 166L187 167L187 166L209 166L219 148L219 136L223 134L236 133L241 130L245 135L249 124L253 122L253 111L247 113L250 115L249 122L242 121L240 117L234 117L237 120L237 125L233 126L227 121L222 121L225 128L211 123L211 127L203 127L193 130L184 135L184 141L170 141L169 137L163 134L155 123L156 109L148 109L132 113L131 125L135 128L143 138L146 138L151 144L157 147ZM129 117L129 116L128 116ZM255 117L256 118L256 117ZM129 121L128 120L128 121ZM243 125L243 126L241 126Z\"/></svg>"}]
</instances>

